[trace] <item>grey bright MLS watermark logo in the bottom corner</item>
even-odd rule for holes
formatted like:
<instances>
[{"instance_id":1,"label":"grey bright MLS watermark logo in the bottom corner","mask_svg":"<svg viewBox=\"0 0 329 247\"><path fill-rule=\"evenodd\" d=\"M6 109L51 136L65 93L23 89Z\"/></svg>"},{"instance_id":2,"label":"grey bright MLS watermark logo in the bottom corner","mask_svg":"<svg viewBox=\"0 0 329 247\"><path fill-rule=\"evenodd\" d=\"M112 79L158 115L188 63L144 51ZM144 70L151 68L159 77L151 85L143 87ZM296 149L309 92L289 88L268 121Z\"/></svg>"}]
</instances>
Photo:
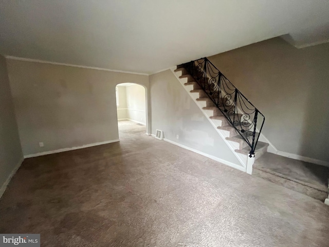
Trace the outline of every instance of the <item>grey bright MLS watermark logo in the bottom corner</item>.
<instances>
[{"instance_id":1,"label":"grey bright MLS watermark logo in the bottom corner","mask_svg":"<svg viewBox=\"0 0 329 247\"><path fill-rule=\"evenodd\" d=\"M40 234L0 234L0 247L40 247Z\"/></svg>"}]
</instances>

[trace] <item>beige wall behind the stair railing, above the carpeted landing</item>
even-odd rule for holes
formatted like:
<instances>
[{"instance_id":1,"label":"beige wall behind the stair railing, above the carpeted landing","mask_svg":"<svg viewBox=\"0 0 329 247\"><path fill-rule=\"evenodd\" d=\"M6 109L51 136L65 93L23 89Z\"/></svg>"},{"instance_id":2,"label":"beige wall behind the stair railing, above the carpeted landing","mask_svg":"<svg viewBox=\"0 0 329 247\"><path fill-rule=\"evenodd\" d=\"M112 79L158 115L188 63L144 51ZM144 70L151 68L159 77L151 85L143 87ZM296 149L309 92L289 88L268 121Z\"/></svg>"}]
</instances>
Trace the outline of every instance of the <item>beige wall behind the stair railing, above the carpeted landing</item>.
<instances>
[{"instance_id":1,"label":"beige wall behind the stair railing, above the carpeted landing","mask_svg":"<svg viewBox=\"0 0 329 247\"><path fill-rule=\"evenodd\" d=\"M329 161L329 44L297 49L275 38L209 60L265 115L278 150Z\"/></svg>"}]
</instances>

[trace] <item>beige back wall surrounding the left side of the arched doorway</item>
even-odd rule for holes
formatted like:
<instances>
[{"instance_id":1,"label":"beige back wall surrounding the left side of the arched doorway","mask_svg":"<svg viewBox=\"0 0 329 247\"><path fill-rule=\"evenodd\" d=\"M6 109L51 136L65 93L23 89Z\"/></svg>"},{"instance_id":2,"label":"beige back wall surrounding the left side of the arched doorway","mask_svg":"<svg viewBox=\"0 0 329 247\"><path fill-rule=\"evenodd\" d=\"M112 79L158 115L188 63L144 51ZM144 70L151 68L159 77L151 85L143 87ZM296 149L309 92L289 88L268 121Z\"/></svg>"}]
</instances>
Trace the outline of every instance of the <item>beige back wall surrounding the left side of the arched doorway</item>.
<instances>
[{"instance_id":1,"label":"beige back wall surrounding the left side of the arched doorway","mask_svg":"<svg viewBox=\"0 0 329 247\"><path fill-rule=\"evenodd\" d=\"M118 139L115 86L148 76L7 60L24 155ZM39 142L44 147L39 147Z\"/></svg>"}]
</instances>

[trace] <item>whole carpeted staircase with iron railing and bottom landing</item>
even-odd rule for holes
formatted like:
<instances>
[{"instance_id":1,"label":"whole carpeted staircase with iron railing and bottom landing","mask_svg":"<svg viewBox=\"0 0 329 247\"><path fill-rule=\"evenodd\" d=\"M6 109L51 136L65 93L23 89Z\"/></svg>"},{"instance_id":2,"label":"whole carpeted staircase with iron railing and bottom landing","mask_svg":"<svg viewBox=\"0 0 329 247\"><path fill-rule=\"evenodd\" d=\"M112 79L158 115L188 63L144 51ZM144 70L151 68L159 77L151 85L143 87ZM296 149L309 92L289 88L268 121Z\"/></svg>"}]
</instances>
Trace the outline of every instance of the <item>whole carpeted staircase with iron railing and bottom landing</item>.
<instances>
[{"instance_id":1,"label":"whole carpeted staircase with iron railing and bottom landing","mask_svg":"<svg viewBox=\"0 0 329 247\"><path fill-rule=\"evenodd\" d=\"M261 134L265 117L207 58L171 70L240 161L228 165L317 200L327 198L329 168L268 153Z\"/></svg>"}]
</instances>

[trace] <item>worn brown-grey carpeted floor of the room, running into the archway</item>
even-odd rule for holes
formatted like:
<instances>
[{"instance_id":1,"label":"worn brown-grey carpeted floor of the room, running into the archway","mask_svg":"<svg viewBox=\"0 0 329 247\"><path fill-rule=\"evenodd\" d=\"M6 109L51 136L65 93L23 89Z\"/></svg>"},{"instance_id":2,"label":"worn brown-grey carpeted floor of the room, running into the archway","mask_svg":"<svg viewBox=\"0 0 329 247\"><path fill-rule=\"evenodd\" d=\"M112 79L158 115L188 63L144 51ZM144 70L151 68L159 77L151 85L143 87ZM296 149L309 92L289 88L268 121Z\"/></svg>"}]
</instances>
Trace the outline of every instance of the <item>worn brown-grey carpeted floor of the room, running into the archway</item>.
<instances>
[{"instance_id":1,"label":"worn brown-grey carpeted floor of the room, running into the archway","mask_svg":"<svg viewBox=\"0 0 329 247\"><path fill-rule=\"evenodd\" d=\"M128 131L131 129L131 131ZM41 246L329 246L329 207L145 135L28 158L0 201L0 233Z\"/></svg>"}]
</instances>

